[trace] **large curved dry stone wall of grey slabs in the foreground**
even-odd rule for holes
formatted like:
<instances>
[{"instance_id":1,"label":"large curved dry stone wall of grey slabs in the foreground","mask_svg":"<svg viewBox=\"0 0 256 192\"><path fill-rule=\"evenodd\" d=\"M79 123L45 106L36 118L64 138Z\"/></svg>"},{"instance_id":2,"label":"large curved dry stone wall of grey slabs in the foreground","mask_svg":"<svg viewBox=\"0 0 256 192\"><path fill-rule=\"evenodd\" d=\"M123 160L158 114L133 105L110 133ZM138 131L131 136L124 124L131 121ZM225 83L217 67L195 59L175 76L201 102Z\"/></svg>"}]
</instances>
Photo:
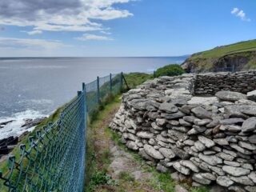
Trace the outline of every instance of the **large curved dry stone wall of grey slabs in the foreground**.
<instances>
[{"instance_id":1,"label":"large curved dry stone wall of grey slabs in the foreground","mask_svg":"<svg viewBox=\"0 0 256 192\"><path fill-rule=\"evenodd\" d=\"M129 149L179 181L255 192L255 91L198 97L196 78L155 78L130 90L110 127Z\"/></svg>"}]
</instances>

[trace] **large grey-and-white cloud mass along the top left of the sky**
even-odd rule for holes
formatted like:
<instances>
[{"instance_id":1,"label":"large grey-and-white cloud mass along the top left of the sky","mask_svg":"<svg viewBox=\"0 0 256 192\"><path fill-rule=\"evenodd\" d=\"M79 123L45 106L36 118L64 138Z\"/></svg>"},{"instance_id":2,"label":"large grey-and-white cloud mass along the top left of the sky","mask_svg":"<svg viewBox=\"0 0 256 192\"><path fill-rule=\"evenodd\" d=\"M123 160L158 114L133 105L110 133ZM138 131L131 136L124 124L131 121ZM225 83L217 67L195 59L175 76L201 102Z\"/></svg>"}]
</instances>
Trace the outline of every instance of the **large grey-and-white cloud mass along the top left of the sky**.
<instances>
[{"instance_id":1,"label":"large grey-and-white cloud mass along the top left of the sky","mask_svg":"<svg viewBox=\"0 0 256 192\"><path fill-rule=\"evenodd\" d=\"M133 16L128 10L119 10L116 3L133 0L8 0L0 1L0 24L32 26L38 34L50 31L105 30L100 20ZM96 22L92 22L96 19ZM35 32L36 31L36 32Z\"/></svg>"}]
</instances>

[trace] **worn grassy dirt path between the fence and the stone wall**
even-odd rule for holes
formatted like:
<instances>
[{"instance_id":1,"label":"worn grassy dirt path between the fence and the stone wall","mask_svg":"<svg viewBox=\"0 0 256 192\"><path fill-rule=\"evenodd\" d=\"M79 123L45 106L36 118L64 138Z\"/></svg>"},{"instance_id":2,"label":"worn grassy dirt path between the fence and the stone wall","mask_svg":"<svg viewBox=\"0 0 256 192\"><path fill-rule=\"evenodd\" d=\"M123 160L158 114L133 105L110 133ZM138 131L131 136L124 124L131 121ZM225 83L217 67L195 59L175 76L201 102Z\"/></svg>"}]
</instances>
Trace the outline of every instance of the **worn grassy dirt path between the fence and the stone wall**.
<instances>
[{"instance_id":1,"label":"worn grassy dirt path between the fence and the stone wall","mask_svg":"<svg viewBox=\"0 0 256 192\"><path fill-rule=\"evenodd\" d=\"M119 142L109 124L121 99L115 98L87 127L86 192L172 192L178 185L170 173L159 173ZM181 184L184 186L184 184ZM185 185L186 186L186 185ZM191 189L204 192L204 189Z\"/></svg>"}]
</instances>

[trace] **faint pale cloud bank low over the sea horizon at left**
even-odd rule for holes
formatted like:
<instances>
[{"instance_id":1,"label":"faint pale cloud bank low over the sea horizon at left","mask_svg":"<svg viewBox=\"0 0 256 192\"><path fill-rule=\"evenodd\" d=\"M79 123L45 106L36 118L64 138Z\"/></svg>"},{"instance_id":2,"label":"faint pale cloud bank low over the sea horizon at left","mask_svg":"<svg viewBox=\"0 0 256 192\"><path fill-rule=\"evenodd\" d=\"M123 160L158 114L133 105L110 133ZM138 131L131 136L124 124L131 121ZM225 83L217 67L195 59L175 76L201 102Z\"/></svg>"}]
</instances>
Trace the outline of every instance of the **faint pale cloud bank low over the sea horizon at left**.
<instances>
[{"instance_id":1,"label":"faint pale cloud bank low over the sea horizon at left","mask_svg":"<svg viewBox=\"0 0 256 192\"><path fill-rule=\"evenodd\" d=\"M44 40L36 38L1 38L0 48L30 49L30 50L54 50L65 47L60 41Z\"/></svg>"}]
</instances>

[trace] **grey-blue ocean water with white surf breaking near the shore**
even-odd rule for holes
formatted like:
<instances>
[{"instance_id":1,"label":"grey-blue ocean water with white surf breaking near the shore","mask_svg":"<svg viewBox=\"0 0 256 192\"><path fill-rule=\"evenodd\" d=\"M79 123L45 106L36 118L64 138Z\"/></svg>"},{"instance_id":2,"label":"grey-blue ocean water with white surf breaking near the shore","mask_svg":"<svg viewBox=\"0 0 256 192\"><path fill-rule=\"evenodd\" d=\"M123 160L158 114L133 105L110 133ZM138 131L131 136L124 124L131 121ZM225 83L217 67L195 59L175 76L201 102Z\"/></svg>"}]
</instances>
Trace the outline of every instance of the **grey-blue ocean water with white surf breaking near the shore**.
<instances>
[{"instance_id":1,"label":"grey-blue ocean water with white surf breaking near the shore","mask_svg":"<svg viewBox=\"0 0 256 192\"><path fill-rule=\"evenodd\" d=\"M153 73L182 63L184 57L162 58L0 58L0 139L22 134L23 119L51 114L70 101L82 82L119 72Z\"/></svg>"}]
</instances>

